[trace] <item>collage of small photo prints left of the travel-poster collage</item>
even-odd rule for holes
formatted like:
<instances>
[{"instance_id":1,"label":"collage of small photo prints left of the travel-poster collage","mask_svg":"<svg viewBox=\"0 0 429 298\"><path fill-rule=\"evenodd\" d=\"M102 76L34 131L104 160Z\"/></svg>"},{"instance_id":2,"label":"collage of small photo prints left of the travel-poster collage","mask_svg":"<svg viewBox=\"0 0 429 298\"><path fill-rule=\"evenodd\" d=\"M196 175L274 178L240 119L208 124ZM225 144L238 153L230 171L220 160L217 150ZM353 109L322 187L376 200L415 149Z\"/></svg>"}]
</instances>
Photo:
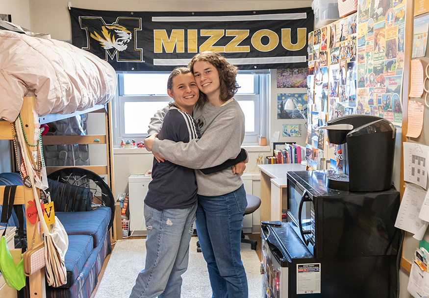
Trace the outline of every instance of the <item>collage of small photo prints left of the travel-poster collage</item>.
<instances>
[{"instance_id":1,"label":"collage of small photo prints left of the travel-poster collage","mask_svg":"<svg viewBox=\"0 0 429 298\"><path fill-rule=\"evenodd\" d=\"M342 171L341 146L328 143L327 121L356 113L357 14L308 34L308 131L306 155L309 170L328 167ZM329 161L324 162L324 161Z\"/></svg>"}]
</instances>

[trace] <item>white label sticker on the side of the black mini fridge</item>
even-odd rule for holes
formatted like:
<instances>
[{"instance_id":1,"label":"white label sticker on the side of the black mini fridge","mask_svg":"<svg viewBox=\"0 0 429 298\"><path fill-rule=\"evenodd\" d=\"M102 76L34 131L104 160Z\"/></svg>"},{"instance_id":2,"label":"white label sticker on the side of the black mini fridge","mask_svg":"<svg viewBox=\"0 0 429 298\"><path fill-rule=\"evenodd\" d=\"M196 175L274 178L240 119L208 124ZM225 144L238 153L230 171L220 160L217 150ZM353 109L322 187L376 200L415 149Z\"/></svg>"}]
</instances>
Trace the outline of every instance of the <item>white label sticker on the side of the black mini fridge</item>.
<instances>
[{"instance_id":1,"label":"white label sticker on the side of the black mini fridge","mask_svg":"<svg viewBox=\"0 0 429 298\"><path fill-rule=\"evenodd\" d=\"M320 294L320 263L297 264L297 294Z\"/></svg>"}]
</instances>

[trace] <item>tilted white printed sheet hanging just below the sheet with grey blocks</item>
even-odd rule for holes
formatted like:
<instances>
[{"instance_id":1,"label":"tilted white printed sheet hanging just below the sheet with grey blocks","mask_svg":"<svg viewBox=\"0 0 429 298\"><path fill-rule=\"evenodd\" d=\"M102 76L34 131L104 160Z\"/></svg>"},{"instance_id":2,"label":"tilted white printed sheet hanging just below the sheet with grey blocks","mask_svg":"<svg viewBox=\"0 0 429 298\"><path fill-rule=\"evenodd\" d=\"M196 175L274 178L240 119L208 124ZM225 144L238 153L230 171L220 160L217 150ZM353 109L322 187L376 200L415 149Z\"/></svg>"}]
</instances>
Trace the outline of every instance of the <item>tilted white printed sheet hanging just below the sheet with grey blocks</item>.
<instances>
[{"instance_id":1,"label":"tilted white printed sheet hanging just below the sheet with grey blocks","mask_svg":"<svg viewBox=\"0 0 429 298\"><path fill-rule=\"evenodd\" d=\"M404 196L399 206L398 216L396 217L395 227L412 234L422 233L427 224L419 218L420 208L425 199L425 191L417 186L406 184ZM427 227L427 225L426 225ZM423 232L423 235L425 233ZM422 238L423 238L423 235ZM420 236L420 235L417 235ZM421 240L421 239L420 239Z\"/></svg>"}]
</instances>

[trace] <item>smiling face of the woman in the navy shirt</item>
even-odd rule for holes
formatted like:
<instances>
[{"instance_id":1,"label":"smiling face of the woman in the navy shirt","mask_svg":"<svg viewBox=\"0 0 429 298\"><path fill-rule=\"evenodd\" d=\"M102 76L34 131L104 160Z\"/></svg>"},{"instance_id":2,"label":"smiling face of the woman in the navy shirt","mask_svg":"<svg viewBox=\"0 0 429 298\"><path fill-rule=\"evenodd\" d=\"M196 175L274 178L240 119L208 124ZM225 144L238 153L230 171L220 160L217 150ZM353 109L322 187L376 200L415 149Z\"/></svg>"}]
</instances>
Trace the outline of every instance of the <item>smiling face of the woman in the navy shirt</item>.
<instances>
[{"instance_id":1,"label":"smiling face of the woman in the navy shirt","mask_svg":"<svg viewBox=\"0 0 429 298\"><path fill-rule=\"evenodd\" d=\"M188 114L192 114L194 104L200 96L192 73L176 75L173 78L172 89L168 89L167 93L174 99L177 107Z\"/></svg>"}]
</instances>

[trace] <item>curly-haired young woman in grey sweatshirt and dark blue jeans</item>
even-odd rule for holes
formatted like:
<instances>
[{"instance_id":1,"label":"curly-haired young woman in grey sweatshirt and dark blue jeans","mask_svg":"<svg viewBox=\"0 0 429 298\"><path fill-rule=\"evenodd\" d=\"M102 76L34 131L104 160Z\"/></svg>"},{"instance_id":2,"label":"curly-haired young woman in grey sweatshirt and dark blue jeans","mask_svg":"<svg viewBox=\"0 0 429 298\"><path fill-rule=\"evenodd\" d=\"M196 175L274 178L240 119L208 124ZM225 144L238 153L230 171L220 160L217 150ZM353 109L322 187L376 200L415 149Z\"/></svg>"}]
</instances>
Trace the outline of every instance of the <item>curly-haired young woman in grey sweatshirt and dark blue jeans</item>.
<instances>
[{"instance_id":1,"label":"curly-haired young woman in grey sweatshirt and dark blue jeans","mask_svg":"<svg viewBox=\"0 0 429 298\"><path fill-rule=\"evenodd\" d=\"M189 143L145 140L154 155L189 168L221 164L240 152L245 135L244 114L233 96L239 86L237 68L216 52L195 55L188 67L200 89L193 117L202 137ZM155 120L155 119L152 119ZM158 124L160 120L157 121ZM152 121L150 127L154 128ZM240 172L240 171L238 171ZM241 262L240 242L246 192L240 175L229 169L197 177L197 232L207 262L213 298L247 298L247 276Z\"/></svg>"}]
</instances>

